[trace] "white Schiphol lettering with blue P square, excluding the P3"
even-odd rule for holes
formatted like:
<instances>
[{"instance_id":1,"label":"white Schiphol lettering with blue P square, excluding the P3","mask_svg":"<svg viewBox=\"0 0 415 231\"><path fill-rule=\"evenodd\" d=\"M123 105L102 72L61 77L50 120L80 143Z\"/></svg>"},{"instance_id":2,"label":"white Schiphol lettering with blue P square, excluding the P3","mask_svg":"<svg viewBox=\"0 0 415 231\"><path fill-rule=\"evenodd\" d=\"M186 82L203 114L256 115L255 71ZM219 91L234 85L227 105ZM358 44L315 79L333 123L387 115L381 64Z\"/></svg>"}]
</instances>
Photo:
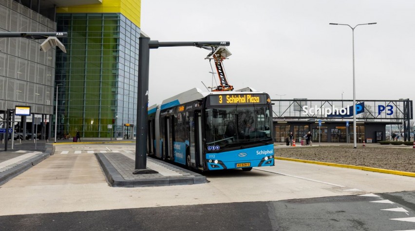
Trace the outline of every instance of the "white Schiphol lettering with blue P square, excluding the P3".
<instances>
[{"instance_id":1,"label":"white Schiphol lettering with blue P square, excluding the P3","mask_svg":"<svg viewBox=\"0 0 415 231\"><path fill-rule=\"evenodd\" d=\"M318 107L309 108L308 106L302 106L302 115L314 114L322 117L350 117L353 116L353 108L347 106L346 108L332 107ZM356 115L364 112L364 102L356 104Z\"/></svg>"}]
</instances>

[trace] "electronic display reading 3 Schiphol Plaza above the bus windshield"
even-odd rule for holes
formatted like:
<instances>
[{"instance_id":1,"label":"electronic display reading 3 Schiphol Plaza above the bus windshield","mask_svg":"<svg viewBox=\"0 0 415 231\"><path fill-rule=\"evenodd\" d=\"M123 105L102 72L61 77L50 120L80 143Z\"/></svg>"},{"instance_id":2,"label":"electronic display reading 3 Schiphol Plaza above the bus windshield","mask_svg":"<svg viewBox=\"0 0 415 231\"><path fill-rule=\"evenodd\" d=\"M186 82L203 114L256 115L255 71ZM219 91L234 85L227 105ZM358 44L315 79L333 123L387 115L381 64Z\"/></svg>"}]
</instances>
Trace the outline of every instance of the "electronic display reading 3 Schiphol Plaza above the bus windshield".
<instances>
[{"instance_id":1,"label":"electronic display reading 3 Schiphol Plaza above the bus windshield","mask_svg":"<svg viewBox=\"0 0 415 231\"><path fill-rule=\"evenodd\" d=\"M210 96L210 105L266 103L264 95L229 94Z\"/></svg>"}]
</instances>

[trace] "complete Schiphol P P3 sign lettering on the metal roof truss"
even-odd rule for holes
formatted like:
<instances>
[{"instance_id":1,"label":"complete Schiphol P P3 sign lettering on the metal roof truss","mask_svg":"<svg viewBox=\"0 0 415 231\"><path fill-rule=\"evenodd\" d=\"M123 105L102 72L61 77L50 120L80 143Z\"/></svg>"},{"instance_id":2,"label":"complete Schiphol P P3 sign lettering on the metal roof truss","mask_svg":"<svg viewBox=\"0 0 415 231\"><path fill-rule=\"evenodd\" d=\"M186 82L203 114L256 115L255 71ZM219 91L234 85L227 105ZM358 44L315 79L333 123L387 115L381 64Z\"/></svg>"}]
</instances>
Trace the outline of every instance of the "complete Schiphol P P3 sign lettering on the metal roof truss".
<instances>
[{"instance_id":1,"label":"complete Schiphol P P3 sign lettering on the metal roof truss","mask_svg":"<svg viewBox=\"0 0 415 231\"><path fill-rule=\"evenodd\" d=\"M356 104L356 115L364 113L364 102ZM377 105L377 114L380 115L382 112L385 112L386 115L391 116L394 114L394 106L392 105ZM337 108L335 106L331 107L319 107L315 105L314 107L302 106L302 115L319 115L321 117L351 117L353 116L352 106L347 106L346 108Z\"/></svg>"}]
</instances>

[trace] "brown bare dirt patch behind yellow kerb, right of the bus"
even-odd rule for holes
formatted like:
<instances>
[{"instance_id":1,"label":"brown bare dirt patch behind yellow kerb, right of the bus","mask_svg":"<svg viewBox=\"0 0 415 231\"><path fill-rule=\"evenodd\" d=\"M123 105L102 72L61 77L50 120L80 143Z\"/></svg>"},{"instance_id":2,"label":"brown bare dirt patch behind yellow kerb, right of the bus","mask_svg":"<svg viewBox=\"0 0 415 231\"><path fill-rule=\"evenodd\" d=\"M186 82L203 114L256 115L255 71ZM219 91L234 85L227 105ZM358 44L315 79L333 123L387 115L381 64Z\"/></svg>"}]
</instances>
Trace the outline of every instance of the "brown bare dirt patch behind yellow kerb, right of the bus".
<instances>
[{"instance_id":1,"label":"brown bare dirt patch behind yellow kerb, right of the bus","mask_svg":"<svg viewBox=\"0 0 415 231\"><path fill-rule=\"evenodd\" d=\"M405 147L402 145L402 147ZM415 173L415 149L396 146L277 148L276 156Z\"/></svg>"}]
</instances>

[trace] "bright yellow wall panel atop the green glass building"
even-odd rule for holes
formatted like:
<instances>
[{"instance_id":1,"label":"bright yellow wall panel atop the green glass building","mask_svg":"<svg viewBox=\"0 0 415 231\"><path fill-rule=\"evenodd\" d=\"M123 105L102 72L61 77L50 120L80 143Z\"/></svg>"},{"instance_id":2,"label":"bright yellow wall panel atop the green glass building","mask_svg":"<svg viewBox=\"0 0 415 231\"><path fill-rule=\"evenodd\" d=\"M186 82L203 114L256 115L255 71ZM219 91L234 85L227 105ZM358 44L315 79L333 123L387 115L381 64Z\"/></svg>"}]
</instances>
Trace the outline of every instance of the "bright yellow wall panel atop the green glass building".
<instances>
[{"instance_id":1,"label":"bright yellow wall panel atop the green glass building","mask_svg":"<svg viewBox=\"0 0 415 231\"><path fill-rule=\"evenodd\" d=\"M57 13L121 13L140 27L141 0L102 0L99 4L60 7Z\"/></svg>"}]
</instances>

